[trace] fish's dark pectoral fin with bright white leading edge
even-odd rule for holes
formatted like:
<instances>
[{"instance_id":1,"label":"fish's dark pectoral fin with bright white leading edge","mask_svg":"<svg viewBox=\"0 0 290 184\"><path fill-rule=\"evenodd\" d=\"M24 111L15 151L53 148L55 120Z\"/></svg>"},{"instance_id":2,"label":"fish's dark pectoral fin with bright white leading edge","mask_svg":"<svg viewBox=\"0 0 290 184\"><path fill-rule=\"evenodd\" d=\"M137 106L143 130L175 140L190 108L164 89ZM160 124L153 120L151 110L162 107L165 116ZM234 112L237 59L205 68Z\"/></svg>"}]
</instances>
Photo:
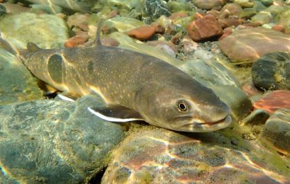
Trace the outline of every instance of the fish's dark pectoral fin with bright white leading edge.
<instances>
[{"instance_id":1,"label":"fish's dark pectoral fin with bright white leading edge","mask_svg":"<svg viewBox=\"0 0 290 184\"><path fill-rule=\"evenodd\" d=\"M91 113L110 122L129 122L144 120L139 112L121 105L109 107L88 107Z\"/></svg>"}]
</instances>

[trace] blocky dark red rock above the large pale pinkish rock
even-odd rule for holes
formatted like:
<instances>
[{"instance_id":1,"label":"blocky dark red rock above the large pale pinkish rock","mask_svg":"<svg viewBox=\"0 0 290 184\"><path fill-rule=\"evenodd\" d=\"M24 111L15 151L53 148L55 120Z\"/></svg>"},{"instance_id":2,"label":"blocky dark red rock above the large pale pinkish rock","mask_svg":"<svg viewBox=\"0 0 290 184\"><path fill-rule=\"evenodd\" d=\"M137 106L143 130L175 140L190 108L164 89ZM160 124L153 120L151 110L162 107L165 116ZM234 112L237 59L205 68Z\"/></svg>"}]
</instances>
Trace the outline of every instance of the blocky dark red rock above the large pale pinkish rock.
<instances>
[{"instance_id":1,"label":"blocky dark red rock above the large pale pinkish rock","mask_svg":"<svg viewBox=\"0 0 290 184\"><path fill-rule=\"evenodd\" d=\"M211 37L221 36L223 29L219 25L216 17L213 15L205 15L201 19L192 21L187 26L189 37L194 41L201 41Z\"/></svg>"}]
</instances>

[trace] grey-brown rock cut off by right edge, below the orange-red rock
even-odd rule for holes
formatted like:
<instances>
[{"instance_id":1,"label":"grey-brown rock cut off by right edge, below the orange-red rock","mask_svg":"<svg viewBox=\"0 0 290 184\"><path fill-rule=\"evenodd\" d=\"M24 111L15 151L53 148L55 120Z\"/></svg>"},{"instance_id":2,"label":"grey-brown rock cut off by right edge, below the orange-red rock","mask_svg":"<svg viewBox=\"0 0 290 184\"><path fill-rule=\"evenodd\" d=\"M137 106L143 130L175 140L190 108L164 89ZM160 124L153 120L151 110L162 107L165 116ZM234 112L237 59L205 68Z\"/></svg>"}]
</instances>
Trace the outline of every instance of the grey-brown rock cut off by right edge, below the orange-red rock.
<instances>
[{"instance_id":1,"label":"grey-brown rock cut off by right edge, below the orange-red rock","mask_svg":"<svg viewBox=\"0 0 290 184\"><path fill-rule=\"evenodd\" d=\"M278 109L267 120L262 137L282 154L290 155L290 109Z\"/></svg>"}]
</instances>

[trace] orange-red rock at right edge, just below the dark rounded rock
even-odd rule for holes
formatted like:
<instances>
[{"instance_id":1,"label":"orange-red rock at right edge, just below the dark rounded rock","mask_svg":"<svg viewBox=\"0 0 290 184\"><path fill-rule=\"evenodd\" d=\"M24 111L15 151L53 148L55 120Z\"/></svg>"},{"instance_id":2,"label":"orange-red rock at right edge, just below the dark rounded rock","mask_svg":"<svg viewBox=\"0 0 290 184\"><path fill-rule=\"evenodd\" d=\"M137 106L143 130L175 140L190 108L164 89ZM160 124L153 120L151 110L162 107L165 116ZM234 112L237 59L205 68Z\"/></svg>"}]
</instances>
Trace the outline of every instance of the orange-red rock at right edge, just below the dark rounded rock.
<instances>
[{"instance_id":1,"label":"orange-red rock at right edge, just below the dark rounded rock","mask_svg":"<svg viewBox=\"0 0 290 184\"><path fill-rule=\"evenodd\" d=\"M268 113L273 113L277 109L290 109L290 91L272 91L257 100L254 105L255 109L264 109Z\"/></svg>"}]
</instances>

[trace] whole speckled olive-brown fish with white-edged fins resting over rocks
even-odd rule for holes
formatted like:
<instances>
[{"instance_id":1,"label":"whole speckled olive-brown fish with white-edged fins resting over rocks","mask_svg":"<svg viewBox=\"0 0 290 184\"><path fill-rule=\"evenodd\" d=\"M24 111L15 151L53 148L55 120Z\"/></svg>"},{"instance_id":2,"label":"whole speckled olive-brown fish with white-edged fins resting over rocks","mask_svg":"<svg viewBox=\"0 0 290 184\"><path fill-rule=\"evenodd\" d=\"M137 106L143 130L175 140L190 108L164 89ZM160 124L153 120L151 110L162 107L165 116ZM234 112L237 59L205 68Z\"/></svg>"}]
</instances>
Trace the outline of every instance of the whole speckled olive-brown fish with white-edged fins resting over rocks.
<instances>
[{"instance_id":1,"label":"whole speckled olive-brown fish with white-edged fins resting over rocks","mask_svg":"<svg viewBox=\"0 0 290 184\"><path fill-rule=\"evenodd\" d=\"M142 120L174 131L208 132L228 127L230 107L212 89L162 59L101 44L20 51L38 79L71 96L99 95L102 107L87 107L110 122Z\"/></svg>"}]
</instances>

